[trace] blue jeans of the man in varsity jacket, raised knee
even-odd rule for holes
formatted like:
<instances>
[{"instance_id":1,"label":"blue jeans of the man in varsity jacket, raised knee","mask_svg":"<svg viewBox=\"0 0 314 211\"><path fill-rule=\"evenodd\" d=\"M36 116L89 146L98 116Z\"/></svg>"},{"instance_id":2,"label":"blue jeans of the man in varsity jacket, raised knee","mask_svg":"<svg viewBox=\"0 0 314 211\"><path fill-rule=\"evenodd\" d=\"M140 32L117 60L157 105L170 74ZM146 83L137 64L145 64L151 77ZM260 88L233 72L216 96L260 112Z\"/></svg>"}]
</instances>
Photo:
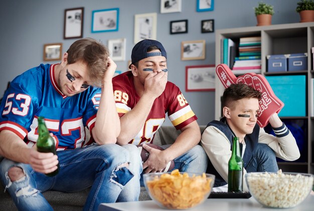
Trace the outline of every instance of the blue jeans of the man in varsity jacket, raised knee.
<instances>
[{"instance_id":1,"label":"blue jeans of the man in varsity jacket, raised knee","mask_svg":"<svg viewBox=\"0 0 314 211\"><path fill-rule=\"evenodd\" d=\"M277 172L275 152L267 144L257 144L254 154L244 166L246 172Z\"/></svg>"}]
</instances>

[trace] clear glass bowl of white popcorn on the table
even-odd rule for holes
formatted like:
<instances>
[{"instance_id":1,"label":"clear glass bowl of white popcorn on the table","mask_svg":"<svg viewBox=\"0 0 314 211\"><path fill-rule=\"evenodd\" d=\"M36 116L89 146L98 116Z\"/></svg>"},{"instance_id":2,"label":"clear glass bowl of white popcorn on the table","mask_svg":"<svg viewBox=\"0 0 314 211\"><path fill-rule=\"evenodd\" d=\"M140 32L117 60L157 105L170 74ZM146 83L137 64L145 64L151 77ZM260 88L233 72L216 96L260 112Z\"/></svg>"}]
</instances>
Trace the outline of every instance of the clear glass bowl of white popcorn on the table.
<instances>
[{"instance_id":1,"label":"clear glass bowl of white popcorn on the table","mask_svg":"<svg viewBox=\"0 0 314 211\"><path fill-rule=\"evenodd\" d=\"M245 174L251 195L262 205L292 208L301 203L313 188L314 175L305 173L253 172Z\"/></svg>"}]
</instances>

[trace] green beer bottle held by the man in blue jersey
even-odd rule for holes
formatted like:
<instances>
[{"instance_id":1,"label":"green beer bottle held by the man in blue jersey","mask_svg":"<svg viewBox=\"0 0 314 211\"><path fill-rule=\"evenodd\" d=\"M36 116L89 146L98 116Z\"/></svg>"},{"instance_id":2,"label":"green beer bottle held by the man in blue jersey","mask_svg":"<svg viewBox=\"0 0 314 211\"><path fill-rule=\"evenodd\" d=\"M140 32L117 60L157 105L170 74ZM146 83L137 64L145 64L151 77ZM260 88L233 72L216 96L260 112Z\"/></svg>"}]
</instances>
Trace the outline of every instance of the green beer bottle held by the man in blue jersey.
<instances>
[{"instance_id":1,"label":"green beer bottle held by the man in blue jersey","mask_svg":"<svg viewBox=\"0 0 314 211\"><path fill-rule=\"evenodd\" d=\"M55 155L57 154L55 141L50 136L43 117L38 117L38 139L36 145L38 152L52 152ZM59 172L59 168L60 167L58 163L58 168L55 171L50 172L46 175L47 176L57 175Z\"/></svg>"}]
</instances>

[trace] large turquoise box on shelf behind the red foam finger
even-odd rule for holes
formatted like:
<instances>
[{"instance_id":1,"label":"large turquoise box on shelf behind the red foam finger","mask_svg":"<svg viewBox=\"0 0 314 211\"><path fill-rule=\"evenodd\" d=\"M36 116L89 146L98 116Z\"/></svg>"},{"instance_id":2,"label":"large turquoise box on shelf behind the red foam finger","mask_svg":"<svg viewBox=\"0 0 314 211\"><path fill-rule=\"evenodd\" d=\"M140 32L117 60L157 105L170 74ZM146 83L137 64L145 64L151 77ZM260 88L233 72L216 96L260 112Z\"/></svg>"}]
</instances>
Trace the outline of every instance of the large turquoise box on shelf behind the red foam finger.
<instances>
[{"instance_id":1,"label":"large turquoise box on shelf behind the red foam finger","mask_svg":"<svg viewBox=\"0 0 314 211\"><path fill-rule=\"evenodd\" d=\"M306 76L265 76L275 95L284 103L279 117L306 116Z\"/></svg>"}]
</instances>

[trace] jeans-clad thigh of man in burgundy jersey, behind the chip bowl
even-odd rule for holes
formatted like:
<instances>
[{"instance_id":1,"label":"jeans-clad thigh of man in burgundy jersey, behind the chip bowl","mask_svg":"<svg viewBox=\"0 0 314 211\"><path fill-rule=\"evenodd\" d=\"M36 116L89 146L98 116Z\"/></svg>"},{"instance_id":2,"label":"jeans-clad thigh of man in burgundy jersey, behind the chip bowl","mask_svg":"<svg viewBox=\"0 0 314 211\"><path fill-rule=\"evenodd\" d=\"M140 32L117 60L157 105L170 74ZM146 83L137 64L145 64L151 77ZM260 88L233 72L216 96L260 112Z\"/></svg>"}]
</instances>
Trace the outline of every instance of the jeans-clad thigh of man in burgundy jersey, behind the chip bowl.
<instances>
[{"instance_id":1,"label":"jeans-clad thigh of man in burgundy jersey, behind the chip bowl","mask_svg":"<svg viewBox=\"0 0 314 211\"><path fill-rule=\"evenodd\" d=\"M171 145L163 145L161 147L167 149L170 146ZM179 169L180 172L203 173L206 172L207 169L208 157L203 147L196 145L188 152L174 159L174 162L174 169ZM140 177L140 186L144 186L142 174Z\"/></svg>"}]
</instances>

